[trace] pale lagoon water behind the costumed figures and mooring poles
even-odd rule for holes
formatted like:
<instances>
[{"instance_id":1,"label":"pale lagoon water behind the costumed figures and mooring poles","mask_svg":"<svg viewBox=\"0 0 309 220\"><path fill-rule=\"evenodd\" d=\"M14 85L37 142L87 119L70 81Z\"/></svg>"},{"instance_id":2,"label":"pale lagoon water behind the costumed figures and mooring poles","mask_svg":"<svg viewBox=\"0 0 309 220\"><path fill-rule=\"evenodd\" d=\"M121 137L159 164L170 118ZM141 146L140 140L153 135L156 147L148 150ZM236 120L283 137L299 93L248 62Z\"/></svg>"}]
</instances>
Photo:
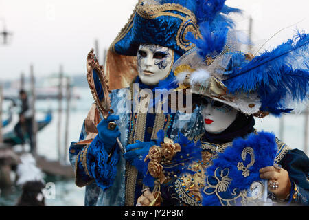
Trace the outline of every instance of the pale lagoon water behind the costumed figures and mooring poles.
<instances>
[{"instance_id":1,"label":"pale lagoon water behind the costumed figures and mooring poles","mask_svg":"<svg viewBox=\"0 0 309 220\"><path fill-rule=\"evenodd\" d=\"M82 122L87 115L93 99L89 89L78 89L80 100L74 100L71 105L69 118L69 143L78 140ZM58 102L55 100L41 100L37 102L37 109L53 109L53 120L43 131L38 133L38 154L48 159L58 159L58 148L56 141L56 129L58 125ZM66 103L62 103L66 107ZM43 114L38 114L38 118ZM258 131L273 131L279 137L279 118L268 116L264 119L255 120L255 128ZM65 111L62 113L62 139L64 138ZM284 138L290 148L304 150L304 115L284 115ZM69 147L69 146L67 146ZM69 162L69 160L67 160ZM83 206L84 188L78 188L74 179L63 180L56 177L47 177L45 182L53 182L56 186L55 199L45 199L47 206ZM0 206L14 206L21 195L19 188L13 187L9 192L2 191L0 194Z\"/></svg>"}]
</instances>

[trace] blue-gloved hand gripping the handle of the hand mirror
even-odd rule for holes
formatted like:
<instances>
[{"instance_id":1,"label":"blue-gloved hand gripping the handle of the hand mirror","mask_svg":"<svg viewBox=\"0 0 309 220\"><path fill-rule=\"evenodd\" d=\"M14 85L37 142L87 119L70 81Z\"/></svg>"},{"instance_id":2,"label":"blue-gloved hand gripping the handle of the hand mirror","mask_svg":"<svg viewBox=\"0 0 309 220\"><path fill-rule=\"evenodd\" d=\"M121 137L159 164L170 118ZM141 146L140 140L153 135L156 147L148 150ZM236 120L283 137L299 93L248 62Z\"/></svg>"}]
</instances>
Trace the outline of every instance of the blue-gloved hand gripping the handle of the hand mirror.
<instances>
[{"instance_id":1,"label":"blue-gloved hand gripping the handle of the hand mirror","mask_svg":"<svg viewBox=\"0 0 309 220\"><path fill-rule=\"evenodd\" d=\"M109 153L116 144L116 138L120 137L121 133L118 126L114 130L108 129L108 123L119 120L118 115L109 115L107 119L103 119L98 125L98 137L103 142L105 150Z\"/></svg>"}]
</instances>

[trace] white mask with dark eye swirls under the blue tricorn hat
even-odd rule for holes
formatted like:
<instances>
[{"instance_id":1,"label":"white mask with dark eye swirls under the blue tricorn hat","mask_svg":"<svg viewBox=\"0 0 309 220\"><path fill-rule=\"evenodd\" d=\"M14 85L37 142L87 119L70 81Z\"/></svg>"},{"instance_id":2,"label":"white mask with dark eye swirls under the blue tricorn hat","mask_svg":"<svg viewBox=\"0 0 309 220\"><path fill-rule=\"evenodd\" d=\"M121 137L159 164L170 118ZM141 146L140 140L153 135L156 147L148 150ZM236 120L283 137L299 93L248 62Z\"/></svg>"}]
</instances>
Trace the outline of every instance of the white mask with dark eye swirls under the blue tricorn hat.
<instances>
[{"instance_id":1,"label":"white mask with dark eye swirls under the blue tricorn hat","mask_svg":"<svg viewBox=\"0 0 309 220\"><path fill-rule=\"evenodd\" d=\"M137 51L137 71L141 82L156 85L170 74L174 51L168 47L143 44Z\"/></svg>"}]
</instances>

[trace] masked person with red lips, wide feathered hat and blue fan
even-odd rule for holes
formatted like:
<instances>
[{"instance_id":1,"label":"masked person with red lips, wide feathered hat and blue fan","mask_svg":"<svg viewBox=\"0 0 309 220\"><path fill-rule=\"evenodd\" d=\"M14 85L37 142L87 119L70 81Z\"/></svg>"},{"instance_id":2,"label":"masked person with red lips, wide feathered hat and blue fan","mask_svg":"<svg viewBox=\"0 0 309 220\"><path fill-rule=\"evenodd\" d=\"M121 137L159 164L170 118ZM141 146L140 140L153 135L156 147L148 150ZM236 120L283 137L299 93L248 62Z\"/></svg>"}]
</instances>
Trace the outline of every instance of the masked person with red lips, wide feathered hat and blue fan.
<instances>
[{"instance_id":1,"label":"masked person with red lips, wide feathered hat and blue fan","mask_svg":"<svg viewBox=\"0 0 309 220\"><path fill-rule=\"evenodd\" d=\"M235 30L219 33L208 27L207 23L200 25L201 39L188 36L196 47L173 67L180 87L192 89L192 100L201 113L205 130L190 142L200 143L194 151L201 155L189 165L182 161L185 171L175 168L174 181L163 182L160 205L308 206L308 156L272 133L254 129L254 116L280 116L299 102L308 102L308 34L297 33L271 52L254 57L250 51L240 52L243 42L238 41ZM178 153L189 145L181 139L175 141L178 146L172 144ZM161 138L157 145L162 142L168 144ZM138 170L143 170L140 165L144 162L151 174L151 158L161 155L159 171L170 175L169 167L162 163L165 145L150 148L143 160L135 159ZM168 164L175 166L177 160ZM149 206L152 201L155 196L146 190L137 204Z\"/></svg>"}]
</instances>

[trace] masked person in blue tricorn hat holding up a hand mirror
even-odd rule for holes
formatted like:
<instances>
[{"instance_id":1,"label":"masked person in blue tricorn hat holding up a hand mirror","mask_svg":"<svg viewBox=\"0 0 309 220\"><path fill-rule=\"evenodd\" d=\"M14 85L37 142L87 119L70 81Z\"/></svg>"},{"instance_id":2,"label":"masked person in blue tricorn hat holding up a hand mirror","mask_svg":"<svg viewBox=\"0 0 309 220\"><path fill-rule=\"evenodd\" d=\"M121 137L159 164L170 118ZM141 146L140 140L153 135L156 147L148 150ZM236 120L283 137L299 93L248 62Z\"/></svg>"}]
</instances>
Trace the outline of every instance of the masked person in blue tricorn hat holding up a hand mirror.
<instances>
[{"instance_id":1,"label":"masked person in blue tricorn hat holding up a hand mirror","mask_svg":"<svg viewBox=\"0 0 309 220\"><path fill-rule=\"evenodd\" d=\"M222 9L223 14L233 11L225 7L224 1L214 1L207 16L198 17L195 12L201 3L205 1L139 1L108 50L105 72L112 90L114 113L102 119L93 104L84 120L79 142L72 142L69 149L76 185L86 186L86 206L134 206L144 186L130 162L148 152L157 131L163 130L168 137L179 131L187 137L201 133L203 123L197 120L197 111L150 113L134 111L132 104L135 92L139 102L145 98L139 90L176 87L172 83L172 65L194 46L185 39L186 33L194 33L197 39L198 23L203 19L210 21ZM124 108L129 111L123 111ZM108 122L116 122L116 129L108 130ZM192 127L196 129L192 131ZM120 153L119 149L111 153L116 137L126 153Z\"/></svg>"}]
</instances>

